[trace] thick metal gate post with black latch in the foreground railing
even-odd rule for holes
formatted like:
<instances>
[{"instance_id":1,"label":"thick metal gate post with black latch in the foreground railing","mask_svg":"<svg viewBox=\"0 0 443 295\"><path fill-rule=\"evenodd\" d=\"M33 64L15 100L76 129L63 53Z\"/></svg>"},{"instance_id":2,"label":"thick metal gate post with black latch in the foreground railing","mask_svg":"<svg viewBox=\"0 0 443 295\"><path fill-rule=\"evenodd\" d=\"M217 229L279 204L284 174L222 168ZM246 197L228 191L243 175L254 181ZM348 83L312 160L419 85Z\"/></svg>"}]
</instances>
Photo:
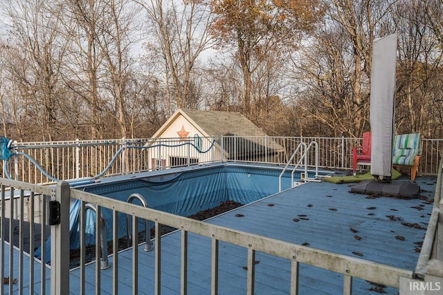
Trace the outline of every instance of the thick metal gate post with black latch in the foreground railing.
<instances>
[{"instance_id":1,"label":"thick metal gate post with black latch in the foreground railing","mask_svg":"<svg viewBox=\"0 0 443 295\"><path fill-rule=\"evenodd\" d=\"M69 198L67 182L59 182L53 200L60 209L50 211L49 218L59 218L51 225L51 294L69 294ZM55 198L54 198L55 197Z\"/></svg>"}]
</instances>

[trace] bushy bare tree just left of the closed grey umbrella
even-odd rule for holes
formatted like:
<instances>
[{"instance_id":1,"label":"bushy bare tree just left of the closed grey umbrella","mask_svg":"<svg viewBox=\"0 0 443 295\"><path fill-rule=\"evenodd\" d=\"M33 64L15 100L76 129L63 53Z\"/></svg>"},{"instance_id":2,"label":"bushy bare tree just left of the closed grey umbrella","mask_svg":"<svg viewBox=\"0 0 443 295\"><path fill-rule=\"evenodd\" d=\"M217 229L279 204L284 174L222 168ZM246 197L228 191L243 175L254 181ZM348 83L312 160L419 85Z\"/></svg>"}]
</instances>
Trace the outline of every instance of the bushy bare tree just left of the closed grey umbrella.
<instances>
[{"instance_id":1,"label":"bushy bare tree just left of the closed grey umbrella","mask_svg":"<svg viewBox=\"0 0 443 295\"><path fill-rule=\"evenodd\" d=\"M316 38L291 58L293 79L302 85L296 106L300 113L326 127L311 129L315 135L358 136L363 126L369 128L368 78L366 84L360 81L359 95L365 99L356 113L353 49L344 30L341 26L319 30Z\"/></svg>"}]
</instances>

